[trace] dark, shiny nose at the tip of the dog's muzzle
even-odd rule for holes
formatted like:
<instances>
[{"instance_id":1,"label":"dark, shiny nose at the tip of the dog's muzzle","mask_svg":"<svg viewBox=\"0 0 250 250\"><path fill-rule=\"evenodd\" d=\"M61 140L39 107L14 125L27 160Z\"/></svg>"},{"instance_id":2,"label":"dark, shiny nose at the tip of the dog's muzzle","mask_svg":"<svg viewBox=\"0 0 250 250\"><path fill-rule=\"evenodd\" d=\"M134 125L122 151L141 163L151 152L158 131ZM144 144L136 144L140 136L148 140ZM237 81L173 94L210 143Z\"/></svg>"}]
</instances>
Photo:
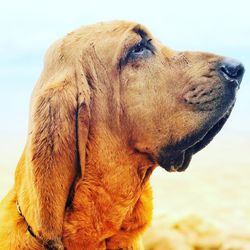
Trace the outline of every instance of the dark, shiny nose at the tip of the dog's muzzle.
<instances>
[{"instance_id":1,"label":"dark, shiny nose at the tip of the dog's muzzle","mask_svg":"<svg viewBox=\"0 0 250 250\"><path fill-rule=\"evenodd\" d=\"M245 69L241 62L231 58L225 58L219 65L219 72L224 80L236 83L239 86Z\"/></svg>"}]
</instances>

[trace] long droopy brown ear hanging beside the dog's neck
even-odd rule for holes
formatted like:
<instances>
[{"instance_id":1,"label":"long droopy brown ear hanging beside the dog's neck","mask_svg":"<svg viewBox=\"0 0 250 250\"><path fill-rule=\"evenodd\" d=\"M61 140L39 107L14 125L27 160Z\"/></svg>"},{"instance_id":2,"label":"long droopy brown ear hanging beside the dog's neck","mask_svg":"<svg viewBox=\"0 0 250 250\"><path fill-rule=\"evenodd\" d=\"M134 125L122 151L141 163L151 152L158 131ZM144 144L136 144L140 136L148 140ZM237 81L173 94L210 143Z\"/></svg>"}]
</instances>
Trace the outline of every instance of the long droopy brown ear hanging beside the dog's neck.
<instances>
[{"instance_id":1,"label":"long droopy brown ear hanging beside the dog's neck","mask_svg":"<svg viewBox=\"0 0 250 250\"><path fill-rule=\"evenodd\" d=\"M79 161L84 171L90 112L82 67L68 63L58 51L48 57L31 99L25 166L17 191L28 224L46 242L60 241Z\"/></svg>"}]
</instances>

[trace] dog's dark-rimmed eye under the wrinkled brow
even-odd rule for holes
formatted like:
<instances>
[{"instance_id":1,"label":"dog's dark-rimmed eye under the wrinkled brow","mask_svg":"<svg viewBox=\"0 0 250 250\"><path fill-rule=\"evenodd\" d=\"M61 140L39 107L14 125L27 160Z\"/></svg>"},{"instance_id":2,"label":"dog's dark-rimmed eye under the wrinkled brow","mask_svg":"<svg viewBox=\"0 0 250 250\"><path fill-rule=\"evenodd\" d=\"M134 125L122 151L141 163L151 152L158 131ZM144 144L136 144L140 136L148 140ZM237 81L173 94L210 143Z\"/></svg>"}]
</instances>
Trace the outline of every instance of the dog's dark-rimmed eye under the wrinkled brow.
<instances>
[{"instance_id":1,"label":"dog's dark-rimmed eye under the wrinkled brow","mask_svg":"<svg viewBox=\"0 0 250 250\"><path fill-rule=\"evenodd\" d=\"M139 58L146 58L153 53L152 44L150 40L142 40L131 48L128 53L128 59L135 60Z\"/></svg>"}]
</instances>

